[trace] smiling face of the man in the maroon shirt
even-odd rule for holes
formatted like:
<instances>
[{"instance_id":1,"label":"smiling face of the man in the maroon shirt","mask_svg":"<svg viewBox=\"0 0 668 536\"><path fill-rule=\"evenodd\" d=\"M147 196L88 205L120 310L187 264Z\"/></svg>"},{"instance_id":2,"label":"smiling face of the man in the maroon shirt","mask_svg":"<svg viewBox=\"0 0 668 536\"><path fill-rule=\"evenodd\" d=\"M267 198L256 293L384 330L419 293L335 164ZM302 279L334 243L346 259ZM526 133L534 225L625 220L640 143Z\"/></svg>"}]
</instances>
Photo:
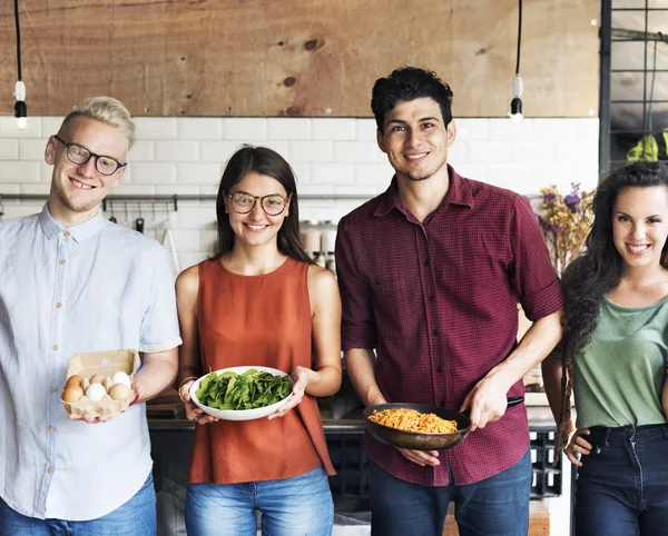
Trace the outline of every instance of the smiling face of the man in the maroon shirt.
<instances>
[{"instance_id":1,"label":"smiling face of the man in the maroon shirt","mask_svg":"<svg viewBox=\"0 0 668 536\"><path fill-rule=\"evenodd\" d=\"M385 115L379 147L387 155L397 178L426 180L448 177L448 148L454 142L454 121L443 123L441 107L431 97L397 102Z\"/></svg>"}]
</instances>

